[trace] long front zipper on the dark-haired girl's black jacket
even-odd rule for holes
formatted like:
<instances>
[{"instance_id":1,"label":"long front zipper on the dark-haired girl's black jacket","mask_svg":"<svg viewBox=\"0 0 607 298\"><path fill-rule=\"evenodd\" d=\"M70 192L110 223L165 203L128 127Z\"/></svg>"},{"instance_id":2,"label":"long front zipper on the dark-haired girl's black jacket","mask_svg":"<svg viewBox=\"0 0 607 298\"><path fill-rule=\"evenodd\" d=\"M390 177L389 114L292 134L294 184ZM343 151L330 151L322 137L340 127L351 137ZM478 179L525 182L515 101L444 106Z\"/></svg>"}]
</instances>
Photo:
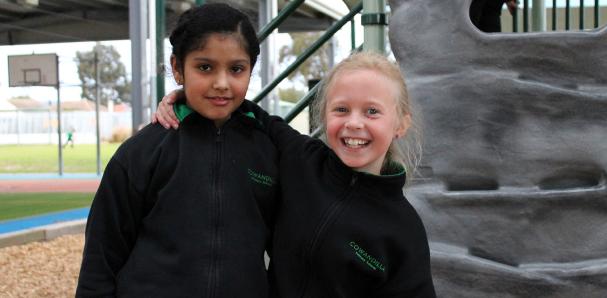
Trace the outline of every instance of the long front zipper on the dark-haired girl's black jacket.
<instances>
[{"instance_id":1,"label":"long front zipper on the dark-haired girl's black jacket","mask_svg":"<svg viewBox=\"0 0 607 298\"><path fill-rule=\"evenodd\" d=\"M215 297L215 286L217 283L217 268L215 267L217 266L217 259L219 259L219 222L221 217L221 209L219 206L221 201L221 191L219 189L219 171L221 169L220 134L221 129L218 129L217 134L215 135L215 146L217 148L217 154L215 155L215 157L217 158L217 163L215 163L215 173L217 174L213 179L213 183L215 185L215 195L212 198L211 206L214 212L211 218L213 234L211 236L211 260L209 262L209 280L206 297Z\"/></svg>"}]
</instances>

